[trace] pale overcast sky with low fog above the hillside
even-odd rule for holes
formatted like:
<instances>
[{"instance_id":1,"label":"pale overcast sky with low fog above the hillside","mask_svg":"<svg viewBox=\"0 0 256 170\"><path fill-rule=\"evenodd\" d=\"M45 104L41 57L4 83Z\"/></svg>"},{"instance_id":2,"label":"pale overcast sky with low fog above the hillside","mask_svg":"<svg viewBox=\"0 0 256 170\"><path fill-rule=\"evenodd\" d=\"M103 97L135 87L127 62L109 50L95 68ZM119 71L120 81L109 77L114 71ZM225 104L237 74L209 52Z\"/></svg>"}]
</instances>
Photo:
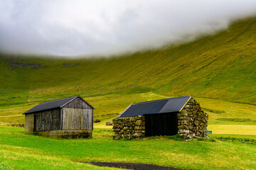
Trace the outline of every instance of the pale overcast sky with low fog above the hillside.
<instances>
[{"instance_id":1,"label":"pale overcast sky with low fog above the hillside","mask_svg":"<svg viewBox=\"0 0 256 170\"><path fill-rule=\"evenodd\" d=\"M118 55L228 28L255 0L0 0L0 50Z\"/></svg>"}]
</instances>

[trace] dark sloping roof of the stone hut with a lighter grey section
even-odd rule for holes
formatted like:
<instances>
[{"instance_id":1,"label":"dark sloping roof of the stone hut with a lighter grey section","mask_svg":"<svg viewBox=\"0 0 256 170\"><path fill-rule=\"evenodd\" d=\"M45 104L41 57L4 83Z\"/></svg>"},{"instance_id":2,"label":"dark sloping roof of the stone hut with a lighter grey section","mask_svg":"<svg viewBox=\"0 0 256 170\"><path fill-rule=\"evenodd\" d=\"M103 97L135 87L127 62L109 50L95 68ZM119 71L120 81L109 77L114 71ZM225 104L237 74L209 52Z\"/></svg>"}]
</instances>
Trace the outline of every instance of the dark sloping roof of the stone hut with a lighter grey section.
<instances>
[{"instance_id":1,"label":"dark sloping roof of the stone hut with a lighter grey section","mask_svg":"<svg viewBox=\"0 0 256 170\"><path fill-rule=\"evenodd\" d=\"M165 98L157 101L146 101L134 103L129 106L119 118L146 115L155 113L179 112L192 96L181 96L176 98Z\"/></svg>"}]
</instances>

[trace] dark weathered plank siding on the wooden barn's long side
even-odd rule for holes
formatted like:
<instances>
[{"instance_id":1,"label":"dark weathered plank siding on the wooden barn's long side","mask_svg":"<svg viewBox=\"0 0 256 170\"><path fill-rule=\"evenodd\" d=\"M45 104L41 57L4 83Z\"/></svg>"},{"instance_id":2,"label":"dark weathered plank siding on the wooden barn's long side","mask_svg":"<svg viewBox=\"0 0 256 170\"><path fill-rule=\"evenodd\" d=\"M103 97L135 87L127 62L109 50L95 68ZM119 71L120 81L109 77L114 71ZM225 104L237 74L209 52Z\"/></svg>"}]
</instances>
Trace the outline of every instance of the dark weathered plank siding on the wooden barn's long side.
<instances>
[{"instance_id":1,"label":"dark weathered plank siding on the wooden barn's long side","mask_svg":"<svg viewBox=\"0 0 256 170\"><path fill-rule=\"evenodd\" d=\"M34 131L60 130L60 109L34 113Z\"/></svg>"}]
</instances>

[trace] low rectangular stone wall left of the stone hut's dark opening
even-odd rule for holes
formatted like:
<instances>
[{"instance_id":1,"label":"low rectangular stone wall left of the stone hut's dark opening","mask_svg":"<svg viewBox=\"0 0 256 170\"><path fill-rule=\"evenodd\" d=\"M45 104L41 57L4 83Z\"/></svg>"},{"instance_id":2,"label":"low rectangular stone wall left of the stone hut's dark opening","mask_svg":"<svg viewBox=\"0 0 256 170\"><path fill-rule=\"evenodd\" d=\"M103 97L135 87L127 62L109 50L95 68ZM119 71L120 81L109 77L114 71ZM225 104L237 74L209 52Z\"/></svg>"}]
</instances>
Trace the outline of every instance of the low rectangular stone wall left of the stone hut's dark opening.
<instances>
[{"instance_id":1,"label":"low rectangular stone wall left of the stone hut's dark opening","mask_svg":"<svg viewBox=\"0 0 256 170\"><path fill-rule=\"evenodd\" d=\"M142 138L145 137L145 117L138 115L134 117L113 119L114 139L118 138Z\"/></svg>"}]
</instances>

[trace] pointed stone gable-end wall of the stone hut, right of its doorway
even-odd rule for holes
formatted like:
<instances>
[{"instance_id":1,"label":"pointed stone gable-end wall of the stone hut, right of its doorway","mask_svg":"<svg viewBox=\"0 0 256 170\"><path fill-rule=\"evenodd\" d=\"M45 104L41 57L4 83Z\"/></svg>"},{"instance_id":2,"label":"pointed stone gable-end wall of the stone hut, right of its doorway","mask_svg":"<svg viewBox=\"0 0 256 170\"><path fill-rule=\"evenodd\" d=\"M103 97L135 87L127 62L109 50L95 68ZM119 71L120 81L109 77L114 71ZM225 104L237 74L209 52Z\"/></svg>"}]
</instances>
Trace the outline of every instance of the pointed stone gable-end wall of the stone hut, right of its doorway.
<instances>
[{"instance_id":1,"label":"pointed stone gable-end wall of the stone hut, right of its doorway","mask_svg":"<svg viewBox=\"0 0 256 170\"><path fill-rule=\"evenodd\" d=\"M208 114L201 110L194 98L191 98L178 113L178 134L184 139L206 137L204 130L207 130L207 126Z\"/></svg>"}]
</instances>

